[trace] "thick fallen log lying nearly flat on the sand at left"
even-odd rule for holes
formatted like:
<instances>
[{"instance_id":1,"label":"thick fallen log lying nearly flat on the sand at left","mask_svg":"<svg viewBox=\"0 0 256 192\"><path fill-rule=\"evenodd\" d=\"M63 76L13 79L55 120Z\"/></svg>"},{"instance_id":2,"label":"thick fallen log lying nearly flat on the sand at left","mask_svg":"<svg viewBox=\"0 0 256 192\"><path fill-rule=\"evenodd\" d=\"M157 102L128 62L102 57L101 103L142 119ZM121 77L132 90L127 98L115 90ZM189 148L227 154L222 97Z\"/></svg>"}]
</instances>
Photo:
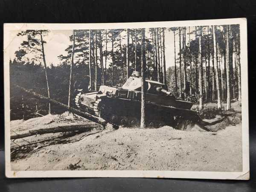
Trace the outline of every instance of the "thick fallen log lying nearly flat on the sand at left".
<instances>
[{"instance_id":1,"label":"thick fallen log lying nearly flat on the sand at left","mask_svg":"<svg viewBox=\"0 0 256 192\"><path fill-rule=\"evenodd\" d=\"M33 135L42 135L42 134L49 134L49 133L61 133L61 132L67 132L67 131L90 131L95 126L92 125L64 125L64 126L57 126L57 127L51 127L51 128L41 128L36 130L30 130L23 134L17 134L17 135L11 135L11 140L20 139L23 137L30 137Z\"/></svg>"}]
</instances>

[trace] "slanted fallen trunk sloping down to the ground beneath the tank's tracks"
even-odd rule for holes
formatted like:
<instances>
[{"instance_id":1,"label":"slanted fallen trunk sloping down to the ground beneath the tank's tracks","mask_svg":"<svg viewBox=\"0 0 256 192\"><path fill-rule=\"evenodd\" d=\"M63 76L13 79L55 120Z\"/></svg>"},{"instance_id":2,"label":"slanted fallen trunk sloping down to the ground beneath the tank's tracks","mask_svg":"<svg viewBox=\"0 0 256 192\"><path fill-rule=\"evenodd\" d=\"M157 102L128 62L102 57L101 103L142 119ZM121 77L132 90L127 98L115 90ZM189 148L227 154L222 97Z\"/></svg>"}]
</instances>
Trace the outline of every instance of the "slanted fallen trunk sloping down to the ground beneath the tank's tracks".
<instances>
[{"instance_id":1,"label":"slanted fallen trunk sloping down to the ground beneath the tank's tracks","mask_svg":"<svg viewBox=\"0 0 256 192\"><path fill-rule=\"evenodd\" d=\"M63 104L61 102L58 102L58 101L54 100L54 99L50 99L50 98L48 98L46 96L43 96L43 95L41 95L39 93L35 93L34 91L26 89L24 87L21 87L19 85L15 84L15 87L25 91L26 93L32 94L33 96L37 97L38 99L42 99L42 100L47 101L49 103L61 106L61 107L65 108L67 111L70 111L72 113L76 113L79 116L82 116L82 117L84 117L86 119L89 119L89 120L91 120L93 122L99 123L100 125L103 125L104 127L105 127L105 125L107 125L107 122L104 119L100 118L100 117L93 116L90 113L83 112L83 111L80 111L78 109L69 107L68 105L65 105L65 104Z\"/></svg>"}]
</instances>

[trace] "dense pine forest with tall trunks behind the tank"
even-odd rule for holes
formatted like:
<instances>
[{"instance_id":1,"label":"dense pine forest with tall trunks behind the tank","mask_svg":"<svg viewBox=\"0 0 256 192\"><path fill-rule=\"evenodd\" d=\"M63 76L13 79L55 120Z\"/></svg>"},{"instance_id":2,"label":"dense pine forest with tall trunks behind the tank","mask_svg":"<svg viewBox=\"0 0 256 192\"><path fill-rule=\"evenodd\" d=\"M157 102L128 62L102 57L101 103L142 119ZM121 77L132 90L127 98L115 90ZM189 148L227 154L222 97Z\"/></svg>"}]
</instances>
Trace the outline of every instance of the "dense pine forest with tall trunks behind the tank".
<instances>
[{"instance_id":1,"label":"dense pine forest with tall trunks behind the tank","mask_svg":"<svg viewBox=\"0 0 256 192\"><path fill-rule=\"evenodd\" d=\"M61 111L20 92L14 84L72 106L77 81L88 77L91 90L100 85L121 86L133 70L141 71L143 56L146 78L167 84L177 98L195 98L200 109L204 102L217 102L220 109L226 102L226 110L232 99L241 102L239 25L73 30L66 54L56 55L59 64L49 64L45 57L45 37L50 33L17 34L26 40L9 61L11 119L24 118L24 111L28 118ZM166 34L170 33L174 58L166 68L166 55L171 54L166 51L170 43Z\"/></svg>"}]
</instances>

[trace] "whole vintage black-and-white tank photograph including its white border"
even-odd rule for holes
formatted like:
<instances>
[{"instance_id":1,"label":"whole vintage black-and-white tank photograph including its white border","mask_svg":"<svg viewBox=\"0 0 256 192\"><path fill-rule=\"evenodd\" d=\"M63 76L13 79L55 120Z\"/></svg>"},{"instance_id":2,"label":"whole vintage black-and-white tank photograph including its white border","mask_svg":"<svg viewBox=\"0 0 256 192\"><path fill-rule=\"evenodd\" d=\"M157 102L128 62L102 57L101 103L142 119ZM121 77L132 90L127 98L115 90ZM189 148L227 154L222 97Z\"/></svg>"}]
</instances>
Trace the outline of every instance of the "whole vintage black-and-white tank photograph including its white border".
<instances>
[{"instance_id":1,"label":"whole vintage black-and-white tank photograph including its white border","mask_svg":"<svg viewBox=\"0 0 256 192\"><path fill-rule=\"evenodd\" d=\"M8 177L249 179L246 19L4 27Z\"/></svg>"}]
</instances>

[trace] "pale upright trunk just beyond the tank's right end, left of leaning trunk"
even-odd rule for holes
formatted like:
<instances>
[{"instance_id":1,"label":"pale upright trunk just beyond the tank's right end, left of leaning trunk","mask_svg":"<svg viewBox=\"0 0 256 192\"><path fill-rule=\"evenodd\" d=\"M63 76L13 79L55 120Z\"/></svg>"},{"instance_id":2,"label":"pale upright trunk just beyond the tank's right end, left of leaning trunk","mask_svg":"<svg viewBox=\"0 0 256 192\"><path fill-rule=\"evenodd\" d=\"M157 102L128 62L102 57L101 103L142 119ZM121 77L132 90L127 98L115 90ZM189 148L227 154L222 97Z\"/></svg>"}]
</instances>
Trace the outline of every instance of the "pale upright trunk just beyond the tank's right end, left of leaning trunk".
<instances>
[{"instance_id":1,"label":"pale upright trunk just beyond the tank's right end, left of leaning trunk","mask_svg":"<svg viewBox=\"0 0 256 192\"><path fill-rule=\"evenodd\" d=\"M201 26L199 26L199 52L198 52L198 61L199 61L199 110L204 108L204 93L203 93L203 58L201 55L202 44L201 44Z\"/></svg>"}]
</instances>

